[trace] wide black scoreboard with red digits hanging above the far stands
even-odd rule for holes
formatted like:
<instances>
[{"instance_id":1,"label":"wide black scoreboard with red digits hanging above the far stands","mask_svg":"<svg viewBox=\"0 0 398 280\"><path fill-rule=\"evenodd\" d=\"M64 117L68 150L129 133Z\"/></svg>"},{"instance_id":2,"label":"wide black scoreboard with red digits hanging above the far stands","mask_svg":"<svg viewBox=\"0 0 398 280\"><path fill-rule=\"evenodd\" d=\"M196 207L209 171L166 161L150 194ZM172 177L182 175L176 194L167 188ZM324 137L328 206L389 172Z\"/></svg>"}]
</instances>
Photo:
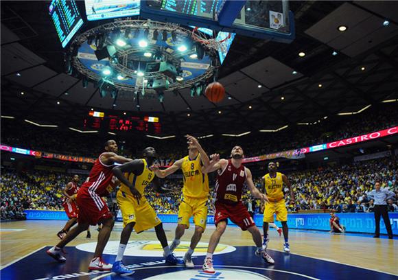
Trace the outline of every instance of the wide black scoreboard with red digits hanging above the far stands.
<instances>
[{"instance_id":1,"label":"wide black scoreboard with red digits hanging above the far stands","mask_svg":"<svg viewBox=\"0 0 398 280\"><path fill-rule=\"evenodd\" d=\"M105 116L102 112L89 113L83 121L86 129L106 130L110 132L139 131L161 134L161 124L158 117L119 117L115 115ZM101 117L100 117L101 116Z\"/></svg>"}]
</instances>

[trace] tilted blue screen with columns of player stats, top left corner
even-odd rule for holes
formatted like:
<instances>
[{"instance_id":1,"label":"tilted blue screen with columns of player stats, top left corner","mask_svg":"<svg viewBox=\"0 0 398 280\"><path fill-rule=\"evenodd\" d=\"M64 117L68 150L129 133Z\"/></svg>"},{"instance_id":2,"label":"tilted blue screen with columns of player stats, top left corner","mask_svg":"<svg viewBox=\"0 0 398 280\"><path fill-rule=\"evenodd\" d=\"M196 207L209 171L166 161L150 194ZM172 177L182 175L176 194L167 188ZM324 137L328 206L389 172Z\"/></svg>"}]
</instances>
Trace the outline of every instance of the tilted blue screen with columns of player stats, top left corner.
<instances>
[{"instance_id":1,"label":"tilted blue screen with columns of player stats, top left corner","mask_svg":"<svg viewBox=\"0 0 398 280\"><path fill-rule=\"evenodd\" d=\"M83 25L82 16L74 0L52 0L49 14L53 20L62 47L66 47L71 38Z\"/></svg>"}]
</instances>

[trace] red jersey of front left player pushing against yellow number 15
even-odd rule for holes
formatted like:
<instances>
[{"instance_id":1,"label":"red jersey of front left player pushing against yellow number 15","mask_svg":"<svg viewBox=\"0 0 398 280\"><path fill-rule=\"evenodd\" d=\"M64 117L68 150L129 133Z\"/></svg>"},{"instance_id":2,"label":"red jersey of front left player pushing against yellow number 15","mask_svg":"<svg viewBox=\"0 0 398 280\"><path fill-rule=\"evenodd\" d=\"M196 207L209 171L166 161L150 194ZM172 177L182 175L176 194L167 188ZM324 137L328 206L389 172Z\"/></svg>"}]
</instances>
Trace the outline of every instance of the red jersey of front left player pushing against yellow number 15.
<instances>
[{"instance_id":1,"label":"red jersey of front left player pushing against yellow number 15","mask_svg":"<svg viewBox=\"0 0 398 280\"><path fill-rule=\"evenodd\" d=\"M116 187L116 177L113 176L112 169L115 165L105 165L101 162L101 156L94 162L94 166L90 171L89 181L84 182L82 189L88 189L89 192L94 192L98 196L108 196Z\"/></svg>"}]
</instances>

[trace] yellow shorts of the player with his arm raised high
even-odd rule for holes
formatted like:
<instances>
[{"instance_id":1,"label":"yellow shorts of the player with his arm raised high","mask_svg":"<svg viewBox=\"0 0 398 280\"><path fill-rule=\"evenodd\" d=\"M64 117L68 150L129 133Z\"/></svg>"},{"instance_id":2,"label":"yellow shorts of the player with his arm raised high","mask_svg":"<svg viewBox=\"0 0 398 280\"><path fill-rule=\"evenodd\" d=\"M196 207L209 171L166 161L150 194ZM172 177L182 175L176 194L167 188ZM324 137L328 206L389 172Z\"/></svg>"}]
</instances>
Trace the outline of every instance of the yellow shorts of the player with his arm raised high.
<instances>
[{"instance_id":1,"label":"yellow shorts of the player with his arm raised high","mask_svg":"<svg viewBox=\"0 0 398 280\"><path fill-rule=\"evenodd\" d=\"M178 224L185 224L189 228L189 218L194 216L196 226L206 229L208 198L187 198L181 200L178 209Z\"/></svg>"}]
</instances>

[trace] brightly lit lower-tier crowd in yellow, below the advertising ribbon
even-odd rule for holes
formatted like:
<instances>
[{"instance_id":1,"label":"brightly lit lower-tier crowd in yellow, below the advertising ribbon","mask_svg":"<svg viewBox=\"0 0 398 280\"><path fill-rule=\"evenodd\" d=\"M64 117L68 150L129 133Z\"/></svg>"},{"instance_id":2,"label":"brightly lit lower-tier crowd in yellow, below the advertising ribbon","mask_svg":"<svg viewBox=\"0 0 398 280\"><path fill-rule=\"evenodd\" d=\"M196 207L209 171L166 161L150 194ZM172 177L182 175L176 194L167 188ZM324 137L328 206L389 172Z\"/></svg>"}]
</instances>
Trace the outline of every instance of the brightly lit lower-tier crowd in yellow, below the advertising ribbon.
<instances>
[{"instance_id":1,"label":"brightly lit lower-tier crowd in yellow, below the advertising ribbon","mask_svg":"<svg viewBox=\"0 0 398 280\"><path fill-rule=\"evenodd\" d=\"M398 211L398 164L392 158L320 167L287 175L296 196L295 202L291 202L289 191L285 189L289 211L334 209L343 213L372 212L373 200L368 198L366 192L373 189L376 181L382 183L382 187L395 191L395 199L388 201L388 209ZM23 219L24 209L63 210L62 189L70 177L64 173L16 172L2 168L1 220ZM147 187L145 196L157 213L177 213L183 179L163 180L163 183L171 189L169 193L157 194L152 187ZM260 189L261 178L255 178L254 183ZM245 204L253 200L248 189L244 190L242 200ZM212 211L210 207L209 212ZM258 200L255 200L255 213L261 213Z\"/></svg>"}]
</instances>

